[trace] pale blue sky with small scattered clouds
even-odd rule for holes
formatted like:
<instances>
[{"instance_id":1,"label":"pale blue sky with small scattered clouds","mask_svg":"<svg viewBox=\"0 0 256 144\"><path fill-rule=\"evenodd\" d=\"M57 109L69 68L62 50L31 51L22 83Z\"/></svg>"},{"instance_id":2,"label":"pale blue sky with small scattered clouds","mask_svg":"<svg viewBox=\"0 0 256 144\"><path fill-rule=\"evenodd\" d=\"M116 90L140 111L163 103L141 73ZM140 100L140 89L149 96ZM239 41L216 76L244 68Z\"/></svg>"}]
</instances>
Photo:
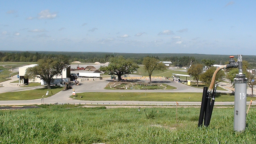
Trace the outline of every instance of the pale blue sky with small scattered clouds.
<instances>
[{"instance_id":1,"label":"pale blue sky with small scattered clouds","mask_svg":"<svg viewBox=\"0 0 256 144\"><path fill-rule=\"evenodd\" d=\"M0 1L0 50L256 55L256 1Z\"/></svg>"}]
</instances>

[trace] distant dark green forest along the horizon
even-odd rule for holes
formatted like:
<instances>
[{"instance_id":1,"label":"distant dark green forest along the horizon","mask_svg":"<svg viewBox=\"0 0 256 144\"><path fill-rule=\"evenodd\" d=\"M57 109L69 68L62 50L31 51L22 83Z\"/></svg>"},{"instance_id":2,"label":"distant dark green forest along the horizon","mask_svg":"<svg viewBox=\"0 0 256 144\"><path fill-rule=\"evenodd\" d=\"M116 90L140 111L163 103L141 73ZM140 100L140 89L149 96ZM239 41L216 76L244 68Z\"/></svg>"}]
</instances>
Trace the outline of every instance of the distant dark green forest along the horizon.
<instances>
[{"instance_id":1,"label":"distant dark green forest along the horizon","mask_svg":"<svg viewBox=\"0 0 256 144\"><path fill-rule=\"evenodd\" d=\"M215 60L215 64L224 64L228 62L230 55L206 55L206 54L176 54L176 53L107 53L107 52L52 52L52 51L0 51L1 61L22 61L22 62L37 62L44 57L57 57L64 55L69 59L69 62L80 61L82 63L108 62L111 57L123 56L137 64L142 64L144 57L154 57L160 61L171 61L173 66L189 66L192 64L201 63L203 59ZM235 58L237 55L234 55ZM249 69L256 68L256 56L243 55L243 60L249 62Z\"/></svg>"}]
</instances>

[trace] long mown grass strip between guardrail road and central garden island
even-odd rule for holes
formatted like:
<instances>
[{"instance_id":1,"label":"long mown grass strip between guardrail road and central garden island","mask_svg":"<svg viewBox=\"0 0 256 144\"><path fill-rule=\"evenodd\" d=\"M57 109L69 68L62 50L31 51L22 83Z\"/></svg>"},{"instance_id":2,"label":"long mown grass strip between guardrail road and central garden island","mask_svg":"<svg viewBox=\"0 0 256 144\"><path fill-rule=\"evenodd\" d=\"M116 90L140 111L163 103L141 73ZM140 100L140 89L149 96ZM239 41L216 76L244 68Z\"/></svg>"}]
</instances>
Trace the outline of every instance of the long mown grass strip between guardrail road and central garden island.
<instances>
[{"instance_id":1,"label":"long mown grass strip between guardrail road and central garden island","mask_svg":"<svg viewBox=\"0 0 256 144\"><path fill-rule=\"evenodd\" d=\"M80 98L82 96L82 98ZM202 93L106 93L106 92L86 92L77 93L77 97L71 95L73 99L87 101L202 101ZM247 98L247 101L256 98ZM217 93L215 101L234 101L234 95L228 93Z\"/></svg>"}]
</instances>

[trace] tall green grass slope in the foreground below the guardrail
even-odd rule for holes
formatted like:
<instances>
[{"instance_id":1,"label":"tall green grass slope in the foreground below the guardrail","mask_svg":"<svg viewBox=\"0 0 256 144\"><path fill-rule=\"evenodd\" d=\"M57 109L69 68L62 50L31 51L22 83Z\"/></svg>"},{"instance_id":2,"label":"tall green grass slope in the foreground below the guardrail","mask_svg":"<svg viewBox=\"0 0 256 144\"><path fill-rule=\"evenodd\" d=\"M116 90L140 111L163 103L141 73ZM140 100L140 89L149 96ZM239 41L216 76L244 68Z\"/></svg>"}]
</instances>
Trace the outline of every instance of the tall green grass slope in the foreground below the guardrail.
<instances>
[{"instance_id":1,"label":"tall green grass slope in the foreground below the guardrail","mask_svg":"<svg viewBox=\"0 0 256 144\"><path fill-rule=\"evenodd\" d=\"M50 108L0 111L1 143L256 143L256 108L234 132L234 108L214 108L197 128L200 108ZM148 117L146 116L148 115Z\"/></svg>"}]
</instances>

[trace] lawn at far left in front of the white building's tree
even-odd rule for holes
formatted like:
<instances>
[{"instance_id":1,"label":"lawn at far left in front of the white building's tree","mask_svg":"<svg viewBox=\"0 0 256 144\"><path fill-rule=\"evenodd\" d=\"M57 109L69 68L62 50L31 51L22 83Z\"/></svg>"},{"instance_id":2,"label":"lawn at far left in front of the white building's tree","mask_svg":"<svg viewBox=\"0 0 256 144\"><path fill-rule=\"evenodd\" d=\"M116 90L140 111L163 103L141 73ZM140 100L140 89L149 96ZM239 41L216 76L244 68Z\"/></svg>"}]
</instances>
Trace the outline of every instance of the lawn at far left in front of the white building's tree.
<instances>
[{"instance_id":1,"label":"lawn at far left in front of the white building's tree","mask_svg":"<svg viewBox=\"0 0 256 144\"><path fill-rule=\"evenodd\" d=\"M50 97L58 93L62 89L63 87L54 86L54 87L51 87L51 89L42 88L42 89L33 89L28 91L0 93L0 101L40 99L42 98L43 95L44 97ZM49 91L48 96L45 95L47 91Z\"/></svg>"}]
</instances>

